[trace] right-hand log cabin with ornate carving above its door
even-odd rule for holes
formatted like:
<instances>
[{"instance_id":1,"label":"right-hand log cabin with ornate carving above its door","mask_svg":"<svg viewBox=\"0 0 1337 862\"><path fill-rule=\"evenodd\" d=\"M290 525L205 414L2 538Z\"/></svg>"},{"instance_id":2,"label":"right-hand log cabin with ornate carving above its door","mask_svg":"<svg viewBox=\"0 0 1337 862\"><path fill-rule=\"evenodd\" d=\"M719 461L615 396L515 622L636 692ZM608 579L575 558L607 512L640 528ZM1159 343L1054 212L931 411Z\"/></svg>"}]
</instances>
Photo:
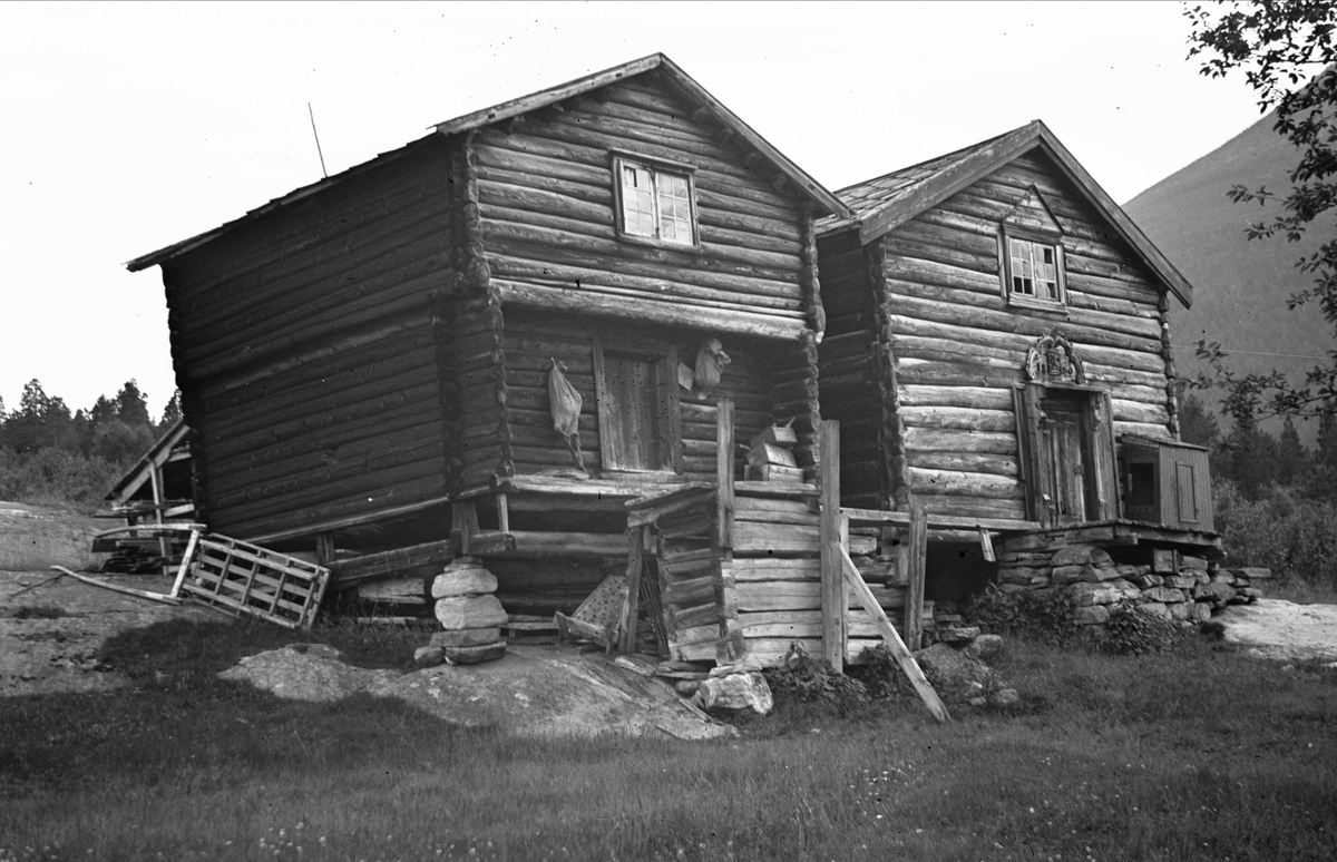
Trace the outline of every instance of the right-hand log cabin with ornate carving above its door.
<instances>
[{"instance_id":1,"label":"right-hand log cabin with ornate carving above its door","mask_svg":"<svg viewBox=\"0 0 1337 862\"><path fill-rule=\"evenodd\" d=\"M1004 565L1044 536L1219 556L1206 452L1178 441L1170 303L1193 289L1044 123L837 195L842 502L924 505L931 599L997 576L975 532L1011 540Z\"/></svg>"}]
</instances>

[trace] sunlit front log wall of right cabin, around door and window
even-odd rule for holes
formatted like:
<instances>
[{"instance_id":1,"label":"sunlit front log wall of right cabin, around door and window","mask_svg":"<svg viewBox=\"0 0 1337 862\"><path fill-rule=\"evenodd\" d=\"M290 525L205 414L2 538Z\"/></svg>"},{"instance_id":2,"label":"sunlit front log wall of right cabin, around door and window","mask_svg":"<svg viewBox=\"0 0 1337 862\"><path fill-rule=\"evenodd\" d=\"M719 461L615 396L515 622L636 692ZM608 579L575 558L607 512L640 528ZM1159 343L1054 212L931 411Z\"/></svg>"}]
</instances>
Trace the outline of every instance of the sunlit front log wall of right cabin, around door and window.
<instances>
[{"instance_id":1,"label":"sunlit front log wall of right cabin, around door and window","mask_svg":"<svg viewBox=\"0 0 1337 862\"><path fill-rule=\"evenodd\" d=\"M1066 313L1009 306L1000 285L999 223L1031 187L1064 230ZM1158 281L1046 156L1015 159L882 243L908 478L931 512L1025 517L1012 388L1056 326L1110 392L1116 433L1171 434Z\"/></svg>"}]
</instances>

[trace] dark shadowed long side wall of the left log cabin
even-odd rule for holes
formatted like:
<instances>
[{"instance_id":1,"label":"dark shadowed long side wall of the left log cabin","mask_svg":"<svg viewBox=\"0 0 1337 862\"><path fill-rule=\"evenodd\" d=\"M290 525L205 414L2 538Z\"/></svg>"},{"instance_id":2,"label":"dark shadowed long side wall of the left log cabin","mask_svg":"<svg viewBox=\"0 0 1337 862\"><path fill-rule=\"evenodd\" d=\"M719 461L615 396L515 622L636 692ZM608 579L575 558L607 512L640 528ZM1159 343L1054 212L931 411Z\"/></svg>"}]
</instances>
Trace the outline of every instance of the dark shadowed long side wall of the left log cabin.
<instances>
[{"instance_id":1,"label":"dark shadowed long side wall of the left log cabin","mask_svg":"<svg viewBox=\"0 0 1337 862\"><path fill-rule=\"evenodd\" d=\"M203 517L250 537L445 493L445 142L163 266Z\"/></svg>"}]
</instances>

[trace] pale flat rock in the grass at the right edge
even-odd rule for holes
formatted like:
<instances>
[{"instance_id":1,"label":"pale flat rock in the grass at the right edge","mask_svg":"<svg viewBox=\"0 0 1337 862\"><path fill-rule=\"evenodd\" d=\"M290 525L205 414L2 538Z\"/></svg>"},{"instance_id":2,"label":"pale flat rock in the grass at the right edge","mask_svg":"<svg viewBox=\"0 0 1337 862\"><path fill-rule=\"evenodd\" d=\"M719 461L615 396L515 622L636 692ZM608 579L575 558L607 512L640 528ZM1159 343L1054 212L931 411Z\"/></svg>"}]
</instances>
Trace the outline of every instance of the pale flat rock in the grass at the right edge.
<instances>
[{"instance_id":1,"label":"pale flat rock in the grass at the right edge","mask_svg":"<svg viewBox=\"0 0 1337 862\"><path fill-rule=\"evenodd\" d=\"M1214 619L1226 627L1229 643L1249 647L1257 656L1337 662L1337 605L1258 599L1230 605Z\"/></svg>"}]
</instances>

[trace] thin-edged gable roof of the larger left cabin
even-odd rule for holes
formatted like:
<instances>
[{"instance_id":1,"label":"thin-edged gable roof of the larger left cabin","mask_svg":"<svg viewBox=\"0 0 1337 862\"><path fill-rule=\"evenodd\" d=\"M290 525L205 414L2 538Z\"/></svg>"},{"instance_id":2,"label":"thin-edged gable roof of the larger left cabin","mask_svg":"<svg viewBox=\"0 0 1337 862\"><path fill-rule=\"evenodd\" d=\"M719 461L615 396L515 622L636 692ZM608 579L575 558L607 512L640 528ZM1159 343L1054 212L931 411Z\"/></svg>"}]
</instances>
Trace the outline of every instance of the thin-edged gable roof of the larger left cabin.
<instances>
[{"instance_id":1,"label":"thin-edged gable roof of the larger left cabin","mask_svg":"<svg viewBox=\"0 0 1337 862\"><path fill-rule=\"evenodd\" d=\"M334 176L328 176L320 182L312 183L309 186L302 186L294 191L287 192L281 198L274 198L269 203L265 203L254 210L246 212L246 215L226 222L214 230L205 231L189 239L172 243L156 251L151 251L146 255L138 257L134 261L126 263L126 269L131 273L138 273L139 270L148 269L158 263L164 263L179 254L198 249L199 246L217 239L218 237L245 225L255 221L257 218L279 210L282 207L303 200L313 194L321 192L332 186L346 182L373 167L378 167L392 159L396 159L414 147L422 144L427 140L433 139L436 135L457 135L460 132L472 131L475 128L483 128L493 123L500 123L513 116L527 114L529 111L536 111L544 108L550 104L579 96L582 94L606 87L608 84L616 83L622 79L634 78L636 75L644 75L646 72L659 71L663 79L679 94L682 94L690 102L699 106L699 110L705 111L706 116L713 118L717 123L729 128L734 135L747 142L747 144L755 150L762 158L770 162L779 172L782 172L798 190L808 196L814 204L817 204L818 214L832 214L836 218L849 218L850 211L841 203L840 198L826 190L821 183L808 175L806 171L800 168L797 164L789 160L785 154L773 147L765 138L758 135L747 123L742 122L733 111L726 108L719 103L718 99L711 96L705 87L694 82L686 72L683 72L678 65L666 57L663 53L651 53L647 57L640 57L639 60L632 60L630 63L623 63L622 65L615 65L612 68L604 69L602 72L595 72L594 75L586 75L584 78L578 78L575 80L559 84L556 87L550 87L548 90L540 90L537 92L521 96L519 99L512 99L509 102L503 102L495 104L489 108L483 108L481 111L473 111L472 114L465 114L444 123L437 123L433 127L433 134L427 138L414 140L398 150L392 150L389 152L382 152L369 162L357 164L348 168Z\"/></svg>"}]
</instances>

